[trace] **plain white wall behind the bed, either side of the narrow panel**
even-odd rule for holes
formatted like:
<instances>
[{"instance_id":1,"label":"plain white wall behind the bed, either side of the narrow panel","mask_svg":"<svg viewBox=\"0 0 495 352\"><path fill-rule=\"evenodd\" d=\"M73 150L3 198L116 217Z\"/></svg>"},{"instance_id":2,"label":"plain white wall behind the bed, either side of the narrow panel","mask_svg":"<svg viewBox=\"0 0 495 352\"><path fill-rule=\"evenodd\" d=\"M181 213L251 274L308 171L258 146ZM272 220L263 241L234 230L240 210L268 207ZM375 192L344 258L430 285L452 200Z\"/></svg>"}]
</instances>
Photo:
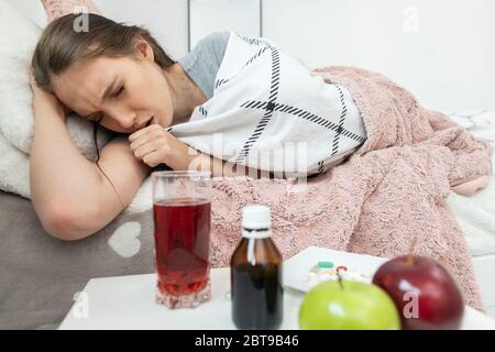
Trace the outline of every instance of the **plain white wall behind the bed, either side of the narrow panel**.
<instances>
[{"instance_id":1,"label":"plain white wall behind the bed, either side of the narrow panel","mask_svg":"<svg viewBox=\"0 0 495 352\"><path fill-rule=\"evenodd\" d=\"M10 0L42 21L36 0ZM95 0L187 52L187 0ZM432 109L495 109L493 0L263 0L263 35L309 66L381 72Z\"/></svg>"}]
</instances>

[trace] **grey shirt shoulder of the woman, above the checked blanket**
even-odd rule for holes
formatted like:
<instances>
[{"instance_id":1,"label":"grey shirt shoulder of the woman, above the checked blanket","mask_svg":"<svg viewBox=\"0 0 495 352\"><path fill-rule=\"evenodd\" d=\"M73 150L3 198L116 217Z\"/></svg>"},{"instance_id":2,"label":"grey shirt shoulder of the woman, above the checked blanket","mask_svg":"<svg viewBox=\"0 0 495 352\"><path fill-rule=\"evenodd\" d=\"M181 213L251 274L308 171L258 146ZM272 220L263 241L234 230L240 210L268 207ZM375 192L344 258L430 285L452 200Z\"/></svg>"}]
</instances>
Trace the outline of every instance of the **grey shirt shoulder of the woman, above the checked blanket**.
<instances>
[{"instance_id":1,"label":"grey shirt shoulder of the woman, above the checked blanket","mask_svg":"<svg viewBox=\"0 0 495 352\"><path fill-rule=\"evenodd\" d=\"M178 59L178 64L198 85L207 99L213 96L215 77L226 54L230 32L213 32Z\"/></svg>"}]
</instances>

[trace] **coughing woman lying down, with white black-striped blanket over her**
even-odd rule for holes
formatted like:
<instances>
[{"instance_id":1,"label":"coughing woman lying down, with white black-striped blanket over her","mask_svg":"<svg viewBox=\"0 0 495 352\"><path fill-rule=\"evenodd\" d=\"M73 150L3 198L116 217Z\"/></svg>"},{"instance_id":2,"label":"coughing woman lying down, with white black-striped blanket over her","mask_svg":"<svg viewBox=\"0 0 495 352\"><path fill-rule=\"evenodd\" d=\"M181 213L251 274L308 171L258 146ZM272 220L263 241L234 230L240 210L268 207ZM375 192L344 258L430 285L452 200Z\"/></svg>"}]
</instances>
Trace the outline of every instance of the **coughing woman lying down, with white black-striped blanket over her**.
<instances>
[{"instance_id":1,"label":"coughing woman lying down, with white black-striped blanket over her","mask_svg":"<svg viewBox=\"0 0 495 352\"><path fill-rule=\"evenodd\" d=\"M31 195L59 239L103 228L156 167L317 175L366 139L349 91L271 41L217 32L175 62L142 28L82 14L76 31L78 15L52 22L32 59ZM119 135L94 163L70 140L69 111Z\"/></svg>"}]
</instances>

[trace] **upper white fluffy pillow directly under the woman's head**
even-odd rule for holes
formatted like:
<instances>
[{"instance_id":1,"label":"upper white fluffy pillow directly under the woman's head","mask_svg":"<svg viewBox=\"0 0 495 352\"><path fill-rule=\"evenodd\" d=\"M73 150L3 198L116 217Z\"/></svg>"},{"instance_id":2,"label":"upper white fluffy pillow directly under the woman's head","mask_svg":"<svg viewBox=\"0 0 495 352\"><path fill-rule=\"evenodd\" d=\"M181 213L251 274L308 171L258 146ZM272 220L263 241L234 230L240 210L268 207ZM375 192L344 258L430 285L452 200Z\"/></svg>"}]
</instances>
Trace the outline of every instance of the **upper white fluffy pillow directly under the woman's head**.
<instances>
[{"instance_id":1,"label":"upper white fluffy pillow directly under the woman's head","mask_svg":"<svg viewBox=\"0 0 495 352\"><path fill-rule=\"evenodd\" d=\"M30 65L41 29L0 0L0 131L13 146L29 153L34 132ZM76 146L88 158L96 157L92 124L77 116L67 119ZM99 145L108 142L110 133L100 129Z\"/></svg>"}]
</instances>

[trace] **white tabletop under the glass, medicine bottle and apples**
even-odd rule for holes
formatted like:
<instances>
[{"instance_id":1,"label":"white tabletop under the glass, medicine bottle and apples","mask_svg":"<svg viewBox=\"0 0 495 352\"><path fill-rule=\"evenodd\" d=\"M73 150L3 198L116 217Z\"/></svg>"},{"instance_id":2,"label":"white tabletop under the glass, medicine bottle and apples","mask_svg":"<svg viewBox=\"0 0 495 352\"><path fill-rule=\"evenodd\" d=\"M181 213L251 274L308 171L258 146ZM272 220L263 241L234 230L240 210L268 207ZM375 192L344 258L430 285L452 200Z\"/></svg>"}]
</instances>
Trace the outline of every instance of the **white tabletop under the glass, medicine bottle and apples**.
<instances>
[{"instance_id":1,"label":"white tabletop under the glass, medicine bottle and apples","mask_svg":"<svg viewBox=\"0 0 495 352\"><path fill-rule=\"evenodd\" d=\"M317 255L318 251L322 250L308 249L307 253L310 255L307 257L321 260ZM338 254L349 255L342 252ZM287 265L290 261L293 258L284 264L284 270L290 267ZM367 258L364 257L364 261ZM294 273L294 265L290 271ZM72 307L59 329L235 329L231 319L231 302L227 298L230 290L230 268L211 271L211 300L193 309L170 310L156 305L155 286L155 274L90 279L82 296L79 296L80 300ZM302 297L302 292L289 287L284 289L284 321L280 329L298 329ZM495 321L466 307L462 329L495 330Z\"/></svg>"}]
</instances>

